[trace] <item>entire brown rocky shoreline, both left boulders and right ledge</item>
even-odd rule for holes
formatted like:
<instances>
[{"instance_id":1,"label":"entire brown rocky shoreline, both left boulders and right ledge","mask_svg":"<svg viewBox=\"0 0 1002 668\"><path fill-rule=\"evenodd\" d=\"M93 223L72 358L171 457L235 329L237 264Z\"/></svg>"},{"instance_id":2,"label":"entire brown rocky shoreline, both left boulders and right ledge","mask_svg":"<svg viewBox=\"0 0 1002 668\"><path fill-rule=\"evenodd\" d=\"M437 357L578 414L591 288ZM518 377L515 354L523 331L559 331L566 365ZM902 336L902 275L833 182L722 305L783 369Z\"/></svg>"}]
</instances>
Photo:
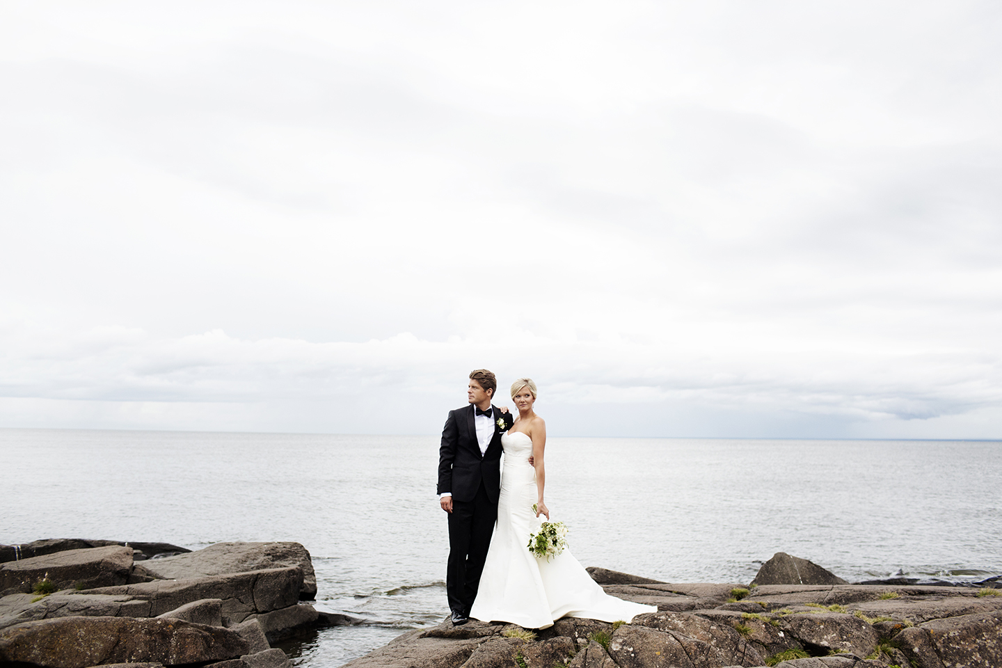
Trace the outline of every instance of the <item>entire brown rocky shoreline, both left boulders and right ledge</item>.
<instances>
[{"instance_id":1,"label":"entire brown rocky shoreline, both left boulders and right ledge","mask_svg":"<svg viewBox=\"0 0 1002 668\"><path fill-rule=\"evenodd\" d=\"M588 569L657 606L630 624L564 618L541 631L471 621L399 636L346 668L998 668L1002 583L849 584L778 553L741 583L664 583ZM0 546L0 664L289 668L272 643L358 623L317 611L299 543L60 539Z\"/></svg>"}]
</instances>

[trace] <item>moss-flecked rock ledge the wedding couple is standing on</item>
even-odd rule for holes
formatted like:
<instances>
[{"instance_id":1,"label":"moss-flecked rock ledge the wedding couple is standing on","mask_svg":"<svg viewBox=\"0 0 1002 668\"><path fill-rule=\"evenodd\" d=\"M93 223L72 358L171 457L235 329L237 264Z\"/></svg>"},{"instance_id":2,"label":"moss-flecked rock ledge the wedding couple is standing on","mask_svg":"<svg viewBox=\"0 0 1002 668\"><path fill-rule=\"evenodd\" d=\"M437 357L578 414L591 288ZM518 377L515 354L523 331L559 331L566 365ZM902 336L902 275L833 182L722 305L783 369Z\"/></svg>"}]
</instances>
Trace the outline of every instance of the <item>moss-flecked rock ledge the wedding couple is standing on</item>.
<instances>
[{"instance_id":1,"label":"moss-flecked rock ledge the wedding couple is standing on","mask_svg":"<svg viewBox=\"0 0 1002 668\"><path fill-rule=\"evenodd\" d=\"M657 612L630 624L564 617L541 631L446 618L343 668L1002 667L997 582L980 590L853 585L785 553L756 578L774 584L588 572L607 593Z\"/></svg>"}]
</instances>

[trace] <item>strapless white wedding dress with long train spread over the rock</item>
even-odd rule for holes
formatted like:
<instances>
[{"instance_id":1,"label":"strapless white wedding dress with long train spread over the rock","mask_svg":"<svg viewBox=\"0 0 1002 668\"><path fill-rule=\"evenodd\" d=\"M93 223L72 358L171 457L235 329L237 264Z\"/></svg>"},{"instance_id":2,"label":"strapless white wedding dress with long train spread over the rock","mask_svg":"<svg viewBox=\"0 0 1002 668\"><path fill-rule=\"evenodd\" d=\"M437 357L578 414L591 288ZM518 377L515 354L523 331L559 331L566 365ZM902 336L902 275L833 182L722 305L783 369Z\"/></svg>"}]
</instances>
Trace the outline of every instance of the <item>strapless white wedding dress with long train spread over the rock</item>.
<instances>
[{"instance_id":1,"label":"strapless white wedding dress with long train spread over the rock","mask_svg":"<svg viewBox=\"0 0 1002 668\"><path fill-rule=\"evenodd\" d=\"M549 561L529 552L529 534L539 531L545 520L532 511L539 499L536 471L529 464L532 440L521 432L509 432L501 437L501 446L504 470L498 521L470 617L545 629L564 616L629 622L634 615L656 612L656 606L603 592L568 549Z\"/></svg>"}]
</instances>

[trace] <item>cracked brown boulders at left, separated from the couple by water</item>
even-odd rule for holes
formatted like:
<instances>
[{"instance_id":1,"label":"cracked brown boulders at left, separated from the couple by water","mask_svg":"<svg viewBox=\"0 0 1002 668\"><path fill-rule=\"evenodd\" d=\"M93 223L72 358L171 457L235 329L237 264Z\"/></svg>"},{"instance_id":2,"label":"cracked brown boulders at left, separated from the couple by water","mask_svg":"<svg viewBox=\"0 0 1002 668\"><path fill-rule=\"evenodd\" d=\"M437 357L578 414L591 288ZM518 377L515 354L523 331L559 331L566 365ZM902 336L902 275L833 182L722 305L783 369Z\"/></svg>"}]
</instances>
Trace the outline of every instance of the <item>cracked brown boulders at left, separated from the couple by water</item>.
<instances>
[{"instance_id":1,"label":"cracked brown boulders at left, separated from the couple by water","mask_svg":"<svg viewBox=\"0 0 1002 668\"><path fill-rule=\"evenodd\" d=\"M291 668L271 643L358 620L319 613L299 543L55 539L0 546L0 665Z\"/></svg>"}]
</instances>

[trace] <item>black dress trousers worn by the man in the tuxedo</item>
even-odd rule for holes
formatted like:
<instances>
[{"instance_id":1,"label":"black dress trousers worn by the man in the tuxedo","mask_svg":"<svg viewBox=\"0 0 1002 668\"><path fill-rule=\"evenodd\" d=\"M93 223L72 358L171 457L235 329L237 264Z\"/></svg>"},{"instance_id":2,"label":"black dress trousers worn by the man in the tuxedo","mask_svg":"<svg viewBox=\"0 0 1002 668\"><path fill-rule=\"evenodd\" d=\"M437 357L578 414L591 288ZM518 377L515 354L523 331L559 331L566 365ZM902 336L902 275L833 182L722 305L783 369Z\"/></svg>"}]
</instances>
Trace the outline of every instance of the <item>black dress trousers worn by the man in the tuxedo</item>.
<instances>
[{"instance_id":1,"label":"black dress trousers worn by the man in the tuxedo","mask_svg":"<svg viewBox=\"0 0 1002 668\"><path fill-rule=\"evenodd\" d=\"M449 567L445 580L450 610L469 614L473 607L497 519L498 505L487 498L483 481L473 501L453 499L449 514Z\"/></svg>"}]
</instances>

